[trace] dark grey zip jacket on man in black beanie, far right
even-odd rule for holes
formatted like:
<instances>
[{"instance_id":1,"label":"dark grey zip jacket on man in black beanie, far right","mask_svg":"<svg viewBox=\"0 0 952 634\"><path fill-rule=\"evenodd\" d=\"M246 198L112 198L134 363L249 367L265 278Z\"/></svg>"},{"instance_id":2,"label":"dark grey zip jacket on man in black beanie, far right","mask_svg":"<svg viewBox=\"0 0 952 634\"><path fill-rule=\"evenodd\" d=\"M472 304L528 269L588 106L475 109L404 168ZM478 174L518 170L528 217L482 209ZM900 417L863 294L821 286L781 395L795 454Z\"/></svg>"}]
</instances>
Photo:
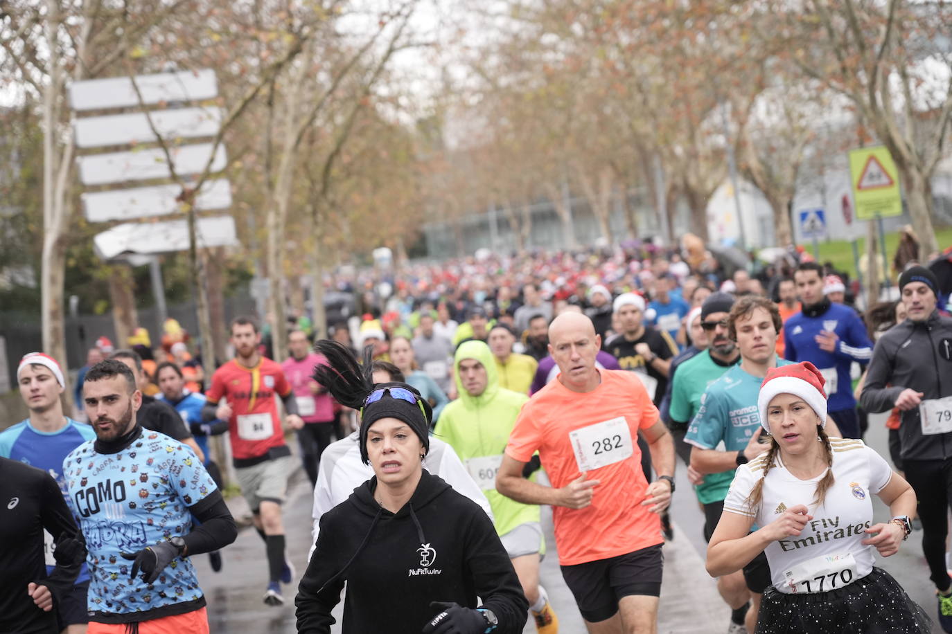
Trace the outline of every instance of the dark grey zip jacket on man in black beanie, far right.
<instances>
[{"instance_id":1,"label":"dark grey zip jacket on man in black beanie, far right","mask_svg":"<svg viewBox=\"0 0 952 634\"><path fill-rule=\"evenodd\" d=\"M906 319L887 330L873 348L860 405L886 412L906 388L922 399L952 395L952 318L935 311L925 321ZM952 457L952 432L922 435L919 408L902 412L903 460Z\"/></svg>"}]
</instances>

